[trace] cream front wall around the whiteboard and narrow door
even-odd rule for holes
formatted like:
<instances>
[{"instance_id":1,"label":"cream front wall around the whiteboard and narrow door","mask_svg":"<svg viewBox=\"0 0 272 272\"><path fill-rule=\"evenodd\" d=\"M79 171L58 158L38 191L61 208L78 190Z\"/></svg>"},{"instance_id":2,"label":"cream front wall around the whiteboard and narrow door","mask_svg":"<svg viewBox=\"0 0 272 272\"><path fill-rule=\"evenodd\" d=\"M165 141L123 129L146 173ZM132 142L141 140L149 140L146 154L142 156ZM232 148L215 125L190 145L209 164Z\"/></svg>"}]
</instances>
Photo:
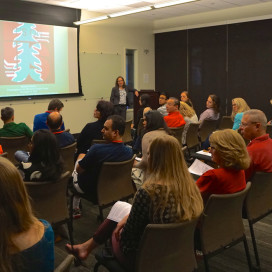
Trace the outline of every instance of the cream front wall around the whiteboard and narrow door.
<instances>
[{"instance_id":1,"label":"cream front wall around the whiteboard and narrow door","mask_svg":"<svg viewBox=\"0 0 272 272\"><path fill-rule=\"evenodd\" d=\"M126 19L127 20L127 19ZM114 22L101 22L89 24L80 28L80 52L120 54L121 75L125 77L125 49L135 49L136 52L136 82L137 89L155 88L155 57L154 57L154 37L152 26L141 24L131 28L129 23L124 23L124 19ZM149 53L145 54L144 50ZM86 67L81 67L81 69ZM83 72L83 70L82 70ZM86 71L85 71L86 72ZM87 71L92 73L92 71ZM117 75L118 76L118 75ZM144 80L145 77L145 80ZM114 85L116 75L113 74L109 82L108 97ZM148 80L147 80L148 79ZM83 97L61 98L64 103L62 115L66 128L70 128L72 133L78 133L86 123L94 121L93 110L101 96L93 94L92 86L83 86ZM0 108L11 106L15 109L15 122L25 122L31 128L33 117L37 113L47 110L50 99L35 99L23 101L0 102Z\"/></svg>"}]
</instances>

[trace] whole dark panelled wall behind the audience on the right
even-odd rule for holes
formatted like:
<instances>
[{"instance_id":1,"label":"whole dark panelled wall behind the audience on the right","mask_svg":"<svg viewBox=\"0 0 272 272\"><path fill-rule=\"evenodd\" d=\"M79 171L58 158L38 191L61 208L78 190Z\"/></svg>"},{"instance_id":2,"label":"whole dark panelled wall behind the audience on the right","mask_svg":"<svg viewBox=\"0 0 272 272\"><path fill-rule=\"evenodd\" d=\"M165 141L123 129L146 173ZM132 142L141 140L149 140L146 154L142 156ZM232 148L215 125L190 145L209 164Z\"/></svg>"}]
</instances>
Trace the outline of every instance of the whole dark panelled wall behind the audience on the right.
<instances>
[{"instance_id":1,"label":"whole dark panelled wall behind the audience on the right","mask_svg":"<svg viewBox=\"0 0 272 272\"><path fill-rule=\"evenodd\" d=\"M210 93L224 115L232 98L243 97L270 119L271 29L272 20L262 20L156 34L156 90L179 97L188 88L198 114Z\"/></svg>"}]
</instances>

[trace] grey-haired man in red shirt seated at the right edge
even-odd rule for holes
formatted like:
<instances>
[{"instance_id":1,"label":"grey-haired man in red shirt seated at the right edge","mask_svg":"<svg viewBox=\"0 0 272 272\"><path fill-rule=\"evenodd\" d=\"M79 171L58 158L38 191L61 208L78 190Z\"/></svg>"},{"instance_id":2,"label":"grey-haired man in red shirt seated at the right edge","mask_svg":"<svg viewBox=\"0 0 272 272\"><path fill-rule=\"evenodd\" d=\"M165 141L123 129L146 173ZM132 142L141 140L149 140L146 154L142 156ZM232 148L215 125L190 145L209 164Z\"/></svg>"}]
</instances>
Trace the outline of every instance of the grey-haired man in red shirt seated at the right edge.
<instances>
[{"instance_id":1,"label":"grey-haired man in red shirt seated at the right edge","mask_svg":"<svg viewBox=\"0 0 272 272\"><path fill-rule=\"evenodd\" d=\"M257 172L272 172L272 139L266 134L267 119L260 110L244 112L240 130L250 140L247 151L251 158L250 167L245 171L246 180Z\"/></svg>"}]
</instances>

